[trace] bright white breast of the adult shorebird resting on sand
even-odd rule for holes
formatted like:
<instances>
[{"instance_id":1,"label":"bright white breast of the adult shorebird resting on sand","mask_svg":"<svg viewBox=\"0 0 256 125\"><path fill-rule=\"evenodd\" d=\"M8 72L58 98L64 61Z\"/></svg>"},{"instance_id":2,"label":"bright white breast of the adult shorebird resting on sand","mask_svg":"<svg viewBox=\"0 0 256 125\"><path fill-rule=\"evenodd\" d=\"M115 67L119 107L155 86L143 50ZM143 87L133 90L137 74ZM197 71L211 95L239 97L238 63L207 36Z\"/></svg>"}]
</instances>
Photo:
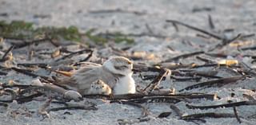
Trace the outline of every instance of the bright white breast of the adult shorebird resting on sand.
<instances>
[{"instance_id":1,"label":"bright white breast of the adult shorebird resting on sand","mask_svg":"<svg viewBox=\"0 0 256 125\"><path fill-rule=\"evenodd\" d=\"M131 75L132 73L128 76L123 76L119 78L118 83L114 86L114 94L119 95L136 92L134 79Z\"/></svg>"}]
</instances>

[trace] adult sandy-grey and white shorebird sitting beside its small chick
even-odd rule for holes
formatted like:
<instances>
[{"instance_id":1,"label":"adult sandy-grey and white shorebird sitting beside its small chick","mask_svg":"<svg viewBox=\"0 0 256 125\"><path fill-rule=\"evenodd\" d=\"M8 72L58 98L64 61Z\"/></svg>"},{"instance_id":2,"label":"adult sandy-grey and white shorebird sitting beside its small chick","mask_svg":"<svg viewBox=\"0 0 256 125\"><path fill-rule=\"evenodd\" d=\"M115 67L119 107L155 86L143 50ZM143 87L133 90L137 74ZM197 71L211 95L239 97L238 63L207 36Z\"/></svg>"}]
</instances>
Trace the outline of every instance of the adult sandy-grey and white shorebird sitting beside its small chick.
<instances>
[{"instance_id":1,"label":"adult sandy-grey and white shorebird sitting beside its small chick","mask_svg":"<svg viewBox=\"0 0 256 125\"><path fill-rule=\"evenodd\" d=\"M111 57L102 65L85 62L70 76L58 77L56 84L86 95L93 82L102 80L112 89L114 95L135 93L132 68L133 63L126 57Z\"/></svg>"}]
</instances>

